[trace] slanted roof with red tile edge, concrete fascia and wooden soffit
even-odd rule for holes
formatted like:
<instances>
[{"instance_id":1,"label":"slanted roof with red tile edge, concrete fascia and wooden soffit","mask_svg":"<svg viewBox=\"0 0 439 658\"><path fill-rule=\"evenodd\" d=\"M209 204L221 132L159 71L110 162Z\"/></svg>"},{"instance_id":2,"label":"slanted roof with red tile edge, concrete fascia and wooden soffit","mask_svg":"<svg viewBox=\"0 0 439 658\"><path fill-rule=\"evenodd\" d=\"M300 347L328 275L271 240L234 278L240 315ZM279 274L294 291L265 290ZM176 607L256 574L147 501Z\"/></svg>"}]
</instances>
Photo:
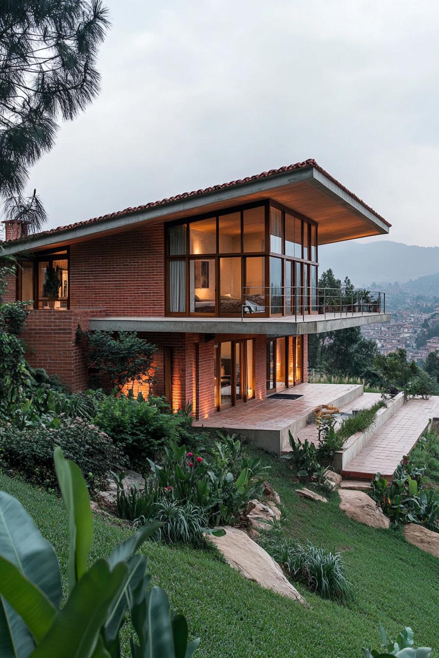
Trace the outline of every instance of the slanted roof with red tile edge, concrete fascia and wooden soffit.
<instances>
[{"instance_id":1,"label":"slanted roof with red tile edge, concrete fascia and wooden soffit","mask_svg":"<svg viewBox=\"0 0 439 658\"><path fill-rule=\"evenodd\" d=\"M271 169L255 176L184 192L161 201L58 226L3 243L6 253L59 247L134 226L175 220L271 198L319 223L319 243L388 233L391 224L330 176L315 160Z\"/></svg>"}]
</instances>

